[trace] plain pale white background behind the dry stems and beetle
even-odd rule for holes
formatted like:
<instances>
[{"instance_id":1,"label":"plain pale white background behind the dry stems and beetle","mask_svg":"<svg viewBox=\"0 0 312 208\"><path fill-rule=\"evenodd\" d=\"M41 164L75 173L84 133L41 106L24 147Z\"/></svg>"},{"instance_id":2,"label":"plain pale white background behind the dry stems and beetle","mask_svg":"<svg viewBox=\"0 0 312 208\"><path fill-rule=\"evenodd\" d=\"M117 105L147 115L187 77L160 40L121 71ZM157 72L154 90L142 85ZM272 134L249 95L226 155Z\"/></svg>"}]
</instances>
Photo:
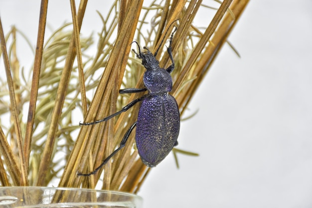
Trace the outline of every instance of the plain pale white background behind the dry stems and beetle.
<instances>
[{"instance_id":1,"label":"plain pale white background behind the dry stems and beetle","mask_svg":"<svg viewBox=\"0 0 312 208\"><path fill-rule=\"evenodd\" d=\"M35 45L39 6L0 0L4 29L15 24ZM71 21L69 1L49 7L54 29ZM103 7L89 2L85 35ZM200 157L179 155L177 170L169 155L154 168L139 193L145 208L312 207L311 38L311 0L248 4L229 36L241 58L225 45L189 106L198 113L181 124L179 148Z\"/></svg>"}]
</instances>

